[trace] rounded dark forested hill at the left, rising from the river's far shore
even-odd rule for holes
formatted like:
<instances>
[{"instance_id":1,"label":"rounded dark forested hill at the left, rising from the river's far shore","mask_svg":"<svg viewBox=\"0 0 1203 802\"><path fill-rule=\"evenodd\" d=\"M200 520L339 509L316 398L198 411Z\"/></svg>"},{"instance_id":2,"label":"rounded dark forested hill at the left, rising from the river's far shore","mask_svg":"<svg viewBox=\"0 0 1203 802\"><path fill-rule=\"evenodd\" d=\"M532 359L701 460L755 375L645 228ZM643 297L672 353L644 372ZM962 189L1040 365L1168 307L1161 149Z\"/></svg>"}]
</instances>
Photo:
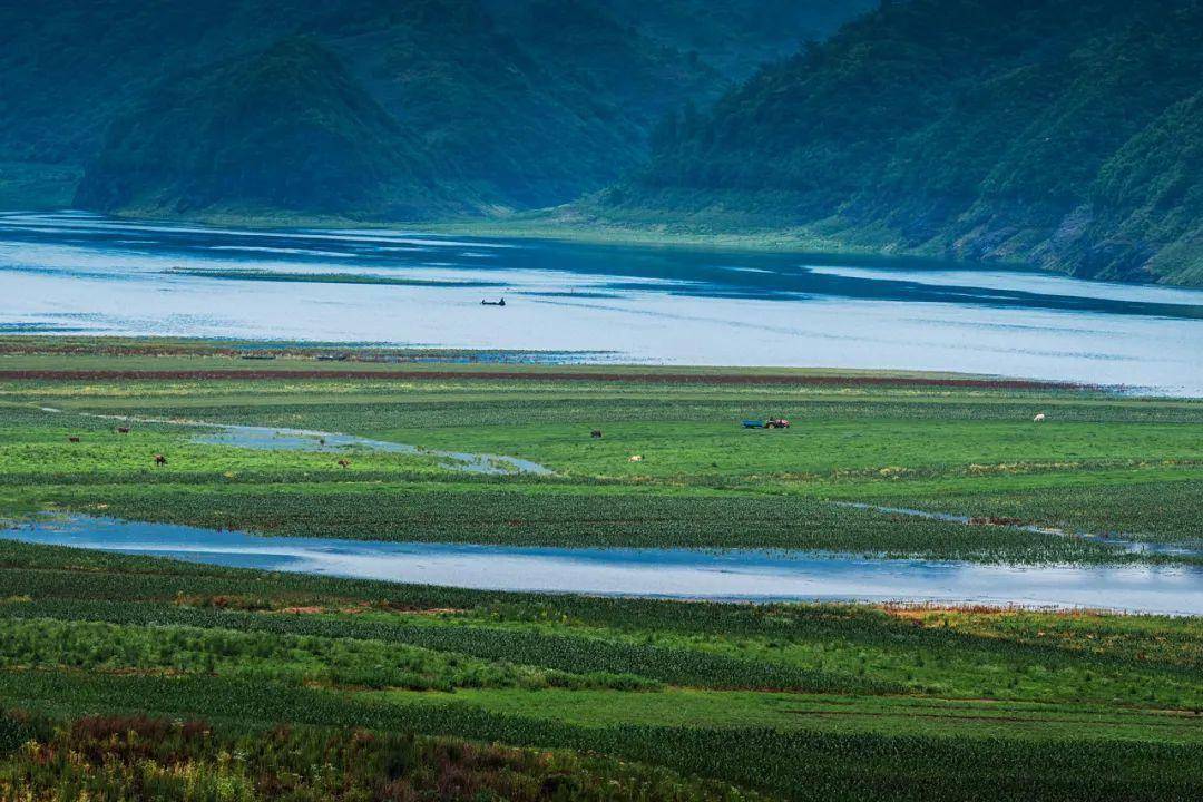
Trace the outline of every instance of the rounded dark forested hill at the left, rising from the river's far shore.
<instances>
[{"instance_id":1,"label":"rounded dark forested hill at the left, rising from the river's far shore","mask_svg":"<svg viewBox=\"0 0 1203 802\"><path fill-rule=\"evenodd\" d=\"M178 76L108 131L76 194L100 210L420 216L452 204L405 131L309 38Z\"/></svg>"}]
</instances>

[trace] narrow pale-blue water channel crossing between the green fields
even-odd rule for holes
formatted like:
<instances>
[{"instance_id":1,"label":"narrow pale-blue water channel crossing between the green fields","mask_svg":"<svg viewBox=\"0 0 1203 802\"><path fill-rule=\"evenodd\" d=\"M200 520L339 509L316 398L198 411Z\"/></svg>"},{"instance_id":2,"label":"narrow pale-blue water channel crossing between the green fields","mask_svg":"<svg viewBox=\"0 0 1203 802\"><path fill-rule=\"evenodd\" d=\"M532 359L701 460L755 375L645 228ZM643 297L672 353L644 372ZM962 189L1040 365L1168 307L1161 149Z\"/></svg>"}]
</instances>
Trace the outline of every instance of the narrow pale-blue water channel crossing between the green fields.
<instances>
[{"instance_id":1,"label":"narrow pale-blue water channel crossing between the green fields","mask_svg":"<svg viewBox=\"0 0 1203 802\"><path fill-rule=\"evenodd\" d=\"M1203 571L976 565L752 549L544 548L260 537L85 516L0 537L274 571L494 590L724 601L857 600L1203 614Z\"/></svg>"}]
</instances>

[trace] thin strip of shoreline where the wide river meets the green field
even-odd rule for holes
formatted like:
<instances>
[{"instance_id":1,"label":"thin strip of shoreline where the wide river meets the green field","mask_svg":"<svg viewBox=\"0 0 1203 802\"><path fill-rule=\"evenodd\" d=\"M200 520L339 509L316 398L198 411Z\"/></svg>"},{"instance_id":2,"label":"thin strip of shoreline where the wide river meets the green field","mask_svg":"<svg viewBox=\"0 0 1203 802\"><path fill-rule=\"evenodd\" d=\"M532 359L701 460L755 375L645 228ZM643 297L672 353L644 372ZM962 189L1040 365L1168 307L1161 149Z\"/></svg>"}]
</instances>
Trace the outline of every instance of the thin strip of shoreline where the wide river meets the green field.
<instances>
[{"instance_id":1,"label":"thin strip of shoreline where the wide river meets the green field","mask_svg":"<svg viewBox=\"0 0 1203 802\"><path fill-rule=\"evenodd\" d=\"M602 357L602 358L598 358ZM609 361L614 357L615 361ZM623 362L608 351L404 347L186 337L0 335L0 381L634 381L698 386L948 388L1171 399L1155 388L953 370ZM176 363L180 364L176 364ZM186 363L183 364L183 363Z\"/></svg>"}]
</instances>

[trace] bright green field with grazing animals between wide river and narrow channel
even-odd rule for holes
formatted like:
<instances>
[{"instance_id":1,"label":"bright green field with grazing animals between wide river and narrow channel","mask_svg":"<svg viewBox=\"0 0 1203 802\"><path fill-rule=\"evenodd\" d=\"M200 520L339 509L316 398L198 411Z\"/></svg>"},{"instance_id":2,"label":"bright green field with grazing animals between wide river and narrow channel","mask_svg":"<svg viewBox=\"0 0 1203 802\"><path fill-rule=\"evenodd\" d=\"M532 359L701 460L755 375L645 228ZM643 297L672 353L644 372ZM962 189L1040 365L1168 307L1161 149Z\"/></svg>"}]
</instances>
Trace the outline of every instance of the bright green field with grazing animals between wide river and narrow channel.
<instances>
[{"instance_id":1,"label":"bright green field with grazing animals between wide river and narrow channel","mask_svg":"<svg viewBox=\"0 0 1203 802\"><path fill-rule=\"evenodd\" d=\"M841 384L830 372L432 369L318 362L286 349L265 362L170 341L142 352L118 341L101 354L37 354L6 343L0 501L10 510L100 509L390 540L1133 559L1097 542L831 504L852 501L1134 540L1201 540L1193 522L1203 506L1203 404L1192 400L924 385L947 376L913 374L905 376L911 384L891 385L889 376L865 384L864 374ZM156 376L140 380L148 370ZM354 375L321 378L331 370ZM78 412L342 432L522 457L555 475L464 476L428 457L366 450L344 469L322 453L195 445L188 427L135 424L119 435L112 421ZM1037 412L1044 423L1032 422ZM793 426L740 426L776 415ZM594 428L602 439L589 436ZM167 465L155 468L154 453L167 456ZM367 495L389 504L363 504Z\"/></svg>"}]
</instances>

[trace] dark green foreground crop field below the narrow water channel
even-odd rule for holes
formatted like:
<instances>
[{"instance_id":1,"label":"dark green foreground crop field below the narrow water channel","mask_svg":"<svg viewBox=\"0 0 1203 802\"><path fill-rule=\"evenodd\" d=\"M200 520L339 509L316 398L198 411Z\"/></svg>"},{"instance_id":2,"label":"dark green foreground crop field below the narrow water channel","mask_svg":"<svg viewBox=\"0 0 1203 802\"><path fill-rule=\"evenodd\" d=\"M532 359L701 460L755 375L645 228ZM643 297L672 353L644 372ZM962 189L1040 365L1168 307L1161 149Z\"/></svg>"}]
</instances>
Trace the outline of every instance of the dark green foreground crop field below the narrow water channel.
<instances>
[{"instance_id":1,"label":"dark green foreground crop field below the narrow water channel","mask_svg":"<svg viewBox=\"0 0 1203 802\"><path fill-rule=\"evenodd\" d=\"M460 756L386 773L419 789L437 782L429 772L485 772L456 761L486 750L506 782L511 771L535 784L563 774L557 783L609 785L597 798L616 800L630 783L652 800L1203 790L1198 619L535 596L19 543L0 547L0 565L11 594L0 788L70 776L129 790L149 761L214 782L297 771L257 747L223 764L235 748L218 744L260 727L275 732L266 743L310 744L290 747L302 753L325 744L324 782L345 788L381 777L355 770L338 744L375 754L401 732L417 735L402 742L407 754ZM128 718L140 714L149 720ZM88 715L117 723L81 723ZM76 750L103 772L46 761L93 727L103 748ZM144 727L166 732L147 738ZM174 745L159 751L159 741ZM546 788L510 797L496 778L472 782L485 796L442 798L594 798Z\"/></svg>"}]
</instances>

